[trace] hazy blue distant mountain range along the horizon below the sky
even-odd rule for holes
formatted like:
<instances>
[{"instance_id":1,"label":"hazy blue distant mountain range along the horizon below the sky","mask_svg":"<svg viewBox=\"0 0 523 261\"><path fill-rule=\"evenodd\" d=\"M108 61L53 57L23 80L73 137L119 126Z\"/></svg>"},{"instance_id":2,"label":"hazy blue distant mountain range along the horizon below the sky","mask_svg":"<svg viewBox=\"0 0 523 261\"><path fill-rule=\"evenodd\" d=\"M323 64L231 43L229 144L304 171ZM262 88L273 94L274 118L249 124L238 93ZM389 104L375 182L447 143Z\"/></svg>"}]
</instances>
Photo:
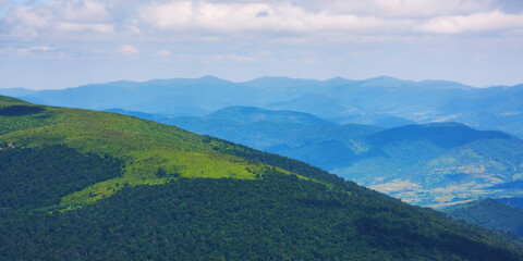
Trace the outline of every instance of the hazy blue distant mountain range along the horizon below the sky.
<instances>
[{"instance_id":1,"label":"hazy blue distant mountain range along the horizon below the sky","mask_svg":"<svg viewBox=\"0 0 523 261\"><path fill-rule=\"evenodd\" d=\"M338 123L396 127L461 122L523 137L523 85L474 88L446 80L328 80L262 77L233 83L212 76L115 82L62 90L0 90L50 105L203 116L231 107L306 112Z\"/></svg>"}]
</instances>

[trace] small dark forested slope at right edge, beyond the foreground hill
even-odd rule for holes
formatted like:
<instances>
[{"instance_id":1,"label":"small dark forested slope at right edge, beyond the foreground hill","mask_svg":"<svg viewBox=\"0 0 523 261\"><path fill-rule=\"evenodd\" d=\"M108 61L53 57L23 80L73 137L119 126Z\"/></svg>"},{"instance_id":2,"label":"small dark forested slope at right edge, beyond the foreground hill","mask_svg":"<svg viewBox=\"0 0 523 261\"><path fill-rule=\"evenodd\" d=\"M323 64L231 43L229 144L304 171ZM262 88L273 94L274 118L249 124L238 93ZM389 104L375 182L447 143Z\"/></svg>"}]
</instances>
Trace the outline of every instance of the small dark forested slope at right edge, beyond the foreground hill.
<instances>
[{"instance_id":1,"label":"small dark forested slope at right edge, beyond the foreground hill","mask_svg":"<svg viewBox=\"0 0 523 261\"><path fill-rule=\"evenodd\" d=\"M443 212L472 224L523 236L523 209L497 200L476 200L446 208Z\"/></svg>"}]
</instances>

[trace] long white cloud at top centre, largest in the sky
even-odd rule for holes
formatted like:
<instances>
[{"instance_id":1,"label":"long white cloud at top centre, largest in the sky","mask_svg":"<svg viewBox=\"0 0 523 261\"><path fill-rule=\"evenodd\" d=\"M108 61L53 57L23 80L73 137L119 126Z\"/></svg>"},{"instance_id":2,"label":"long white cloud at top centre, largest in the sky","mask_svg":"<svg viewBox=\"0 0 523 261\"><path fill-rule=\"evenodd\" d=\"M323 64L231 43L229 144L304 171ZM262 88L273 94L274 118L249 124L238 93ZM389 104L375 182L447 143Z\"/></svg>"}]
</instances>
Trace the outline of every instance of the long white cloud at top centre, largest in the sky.
<instances>
[{"instance_id":1,"label":"long white cloud at top centre, largest in the sky","mask_svg":"<svg viewBox=\"0 0 523 261\"><path fill-rule=\"evenodd\" d=\"M265 3L154 3L138 9L146 25L174 32L362 32L404 29L411 21L309 12L291 4Z\"/></svg>"}]
</instances>

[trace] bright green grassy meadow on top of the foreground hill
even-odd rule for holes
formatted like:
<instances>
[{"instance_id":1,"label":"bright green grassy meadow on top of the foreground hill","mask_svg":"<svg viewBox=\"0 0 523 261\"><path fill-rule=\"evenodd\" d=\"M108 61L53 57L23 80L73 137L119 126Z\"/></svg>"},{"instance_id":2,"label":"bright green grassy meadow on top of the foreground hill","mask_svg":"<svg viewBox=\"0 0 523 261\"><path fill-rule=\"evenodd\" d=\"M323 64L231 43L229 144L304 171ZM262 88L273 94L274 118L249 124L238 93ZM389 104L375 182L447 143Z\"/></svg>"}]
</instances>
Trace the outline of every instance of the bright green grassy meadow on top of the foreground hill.
<instances>
[{"instance_id":1,"label":"bright green grassy meadow on top of the foreground hill","mask_svg":"<svg viewBox=\"0 0 523 261\"><path fill-rule=\"evenodd\" d=\"M272 167L219 152L230 144L119 114L39 107L2 98L0 115L0 144L4 144L7 158L24 153L19 148L39 149L42 154L63 147L87 158L97 156L119 162L121 170L117 175L107 174L108 178L63 195L61 207L92 203L124 186L160 185L179 176L252 179ZM46 164L42 162L41 167Z\"/></svg>"}]
</instances>

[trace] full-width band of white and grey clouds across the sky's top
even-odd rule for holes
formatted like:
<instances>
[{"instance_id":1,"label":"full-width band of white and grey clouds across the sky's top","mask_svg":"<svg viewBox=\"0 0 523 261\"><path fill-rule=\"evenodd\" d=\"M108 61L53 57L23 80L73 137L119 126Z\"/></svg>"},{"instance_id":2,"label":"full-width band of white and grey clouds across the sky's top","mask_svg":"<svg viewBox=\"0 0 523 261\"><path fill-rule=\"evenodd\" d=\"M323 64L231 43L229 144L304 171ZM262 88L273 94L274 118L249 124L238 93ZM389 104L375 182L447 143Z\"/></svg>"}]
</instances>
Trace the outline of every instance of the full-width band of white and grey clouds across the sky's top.
<instances>
[{"instance_id":1,"label":"full-width band of white and grey clouds across the sky's top","mask_svg":"<svg viewBox=\"0 0 523 261\"><path fill-rule=\"evenodd\" d=\"M54 0L12 8L2 38L315 37L498 33L523 29L523 11L492 0L99 1ZM515 33L514 33L515 32Z\"/></svg>"}]
</instances>

